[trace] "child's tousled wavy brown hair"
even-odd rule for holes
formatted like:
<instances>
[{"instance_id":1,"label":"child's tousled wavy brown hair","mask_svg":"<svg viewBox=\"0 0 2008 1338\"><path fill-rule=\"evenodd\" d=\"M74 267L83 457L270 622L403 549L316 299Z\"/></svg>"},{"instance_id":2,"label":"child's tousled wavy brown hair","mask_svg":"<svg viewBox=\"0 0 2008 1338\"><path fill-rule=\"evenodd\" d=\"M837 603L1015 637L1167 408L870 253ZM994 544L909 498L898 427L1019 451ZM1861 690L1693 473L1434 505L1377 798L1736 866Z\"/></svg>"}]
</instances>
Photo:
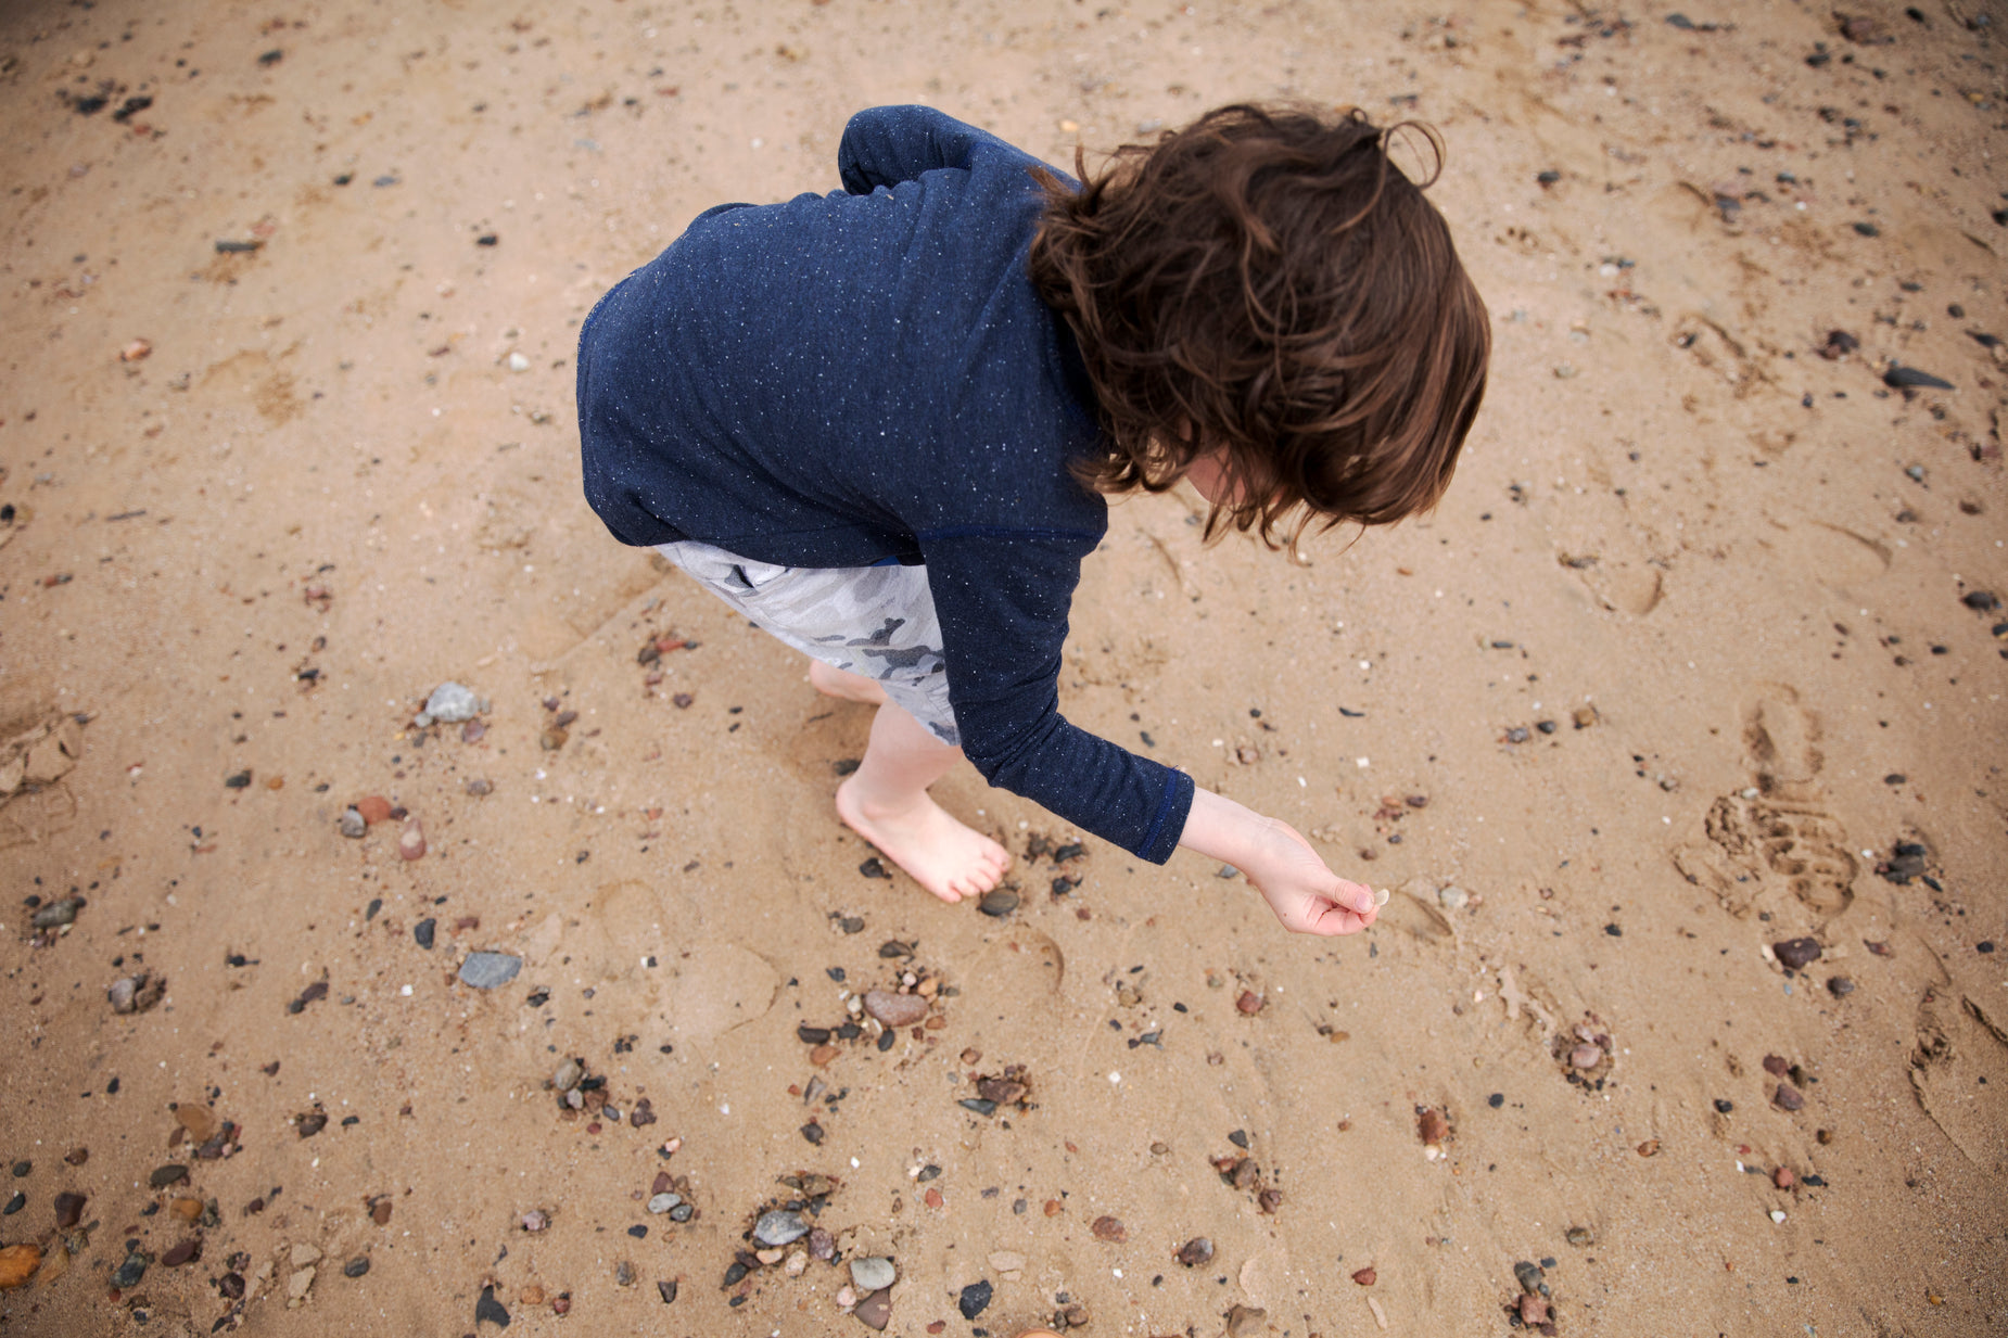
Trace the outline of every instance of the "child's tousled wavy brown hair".
<instances>
[{"instance_id":1,"label":"child's tousled wavy brown hair","mask_svg":"<svg viewBox=\"0 0 2008 1338\"><path fill-rule=\"evenodd\" d=\"M1271 548L1438 502L1492 329L1444 217L1388 159L1402 129L1432 185L1430 127L1247 104L1124 145L1096 177L1076 149L1078 193L1040 175L1032 281L1080 342L1108 444L1076 464L1084 484L1163 492L1225 448L1207 536L1255 528Z\"/></svg>"}]
</instances>

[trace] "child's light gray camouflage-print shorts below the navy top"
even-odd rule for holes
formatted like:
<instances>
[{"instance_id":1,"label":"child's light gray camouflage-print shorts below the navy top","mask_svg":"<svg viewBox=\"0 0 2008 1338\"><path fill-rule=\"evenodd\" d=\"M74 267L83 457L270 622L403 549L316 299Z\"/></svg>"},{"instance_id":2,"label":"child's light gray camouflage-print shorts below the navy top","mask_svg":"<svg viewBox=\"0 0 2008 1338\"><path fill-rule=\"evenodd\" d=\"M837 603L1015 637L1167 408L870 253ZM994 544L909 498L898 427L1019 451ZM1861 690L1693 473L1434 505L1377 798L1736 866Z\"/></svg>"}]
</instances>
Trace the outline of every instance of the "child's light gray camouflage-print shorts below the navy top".
<instances>
[{"instance_id":1,"label":"child's light gray camouflage-print shorts below the navy top","mask_svg":"<svg viewBox=\"0 0 2008 1338\"><path fill-rule=\"evenodd\" d=\"M657 552L809 659L877 679L894 705L960 747L926 567L775 567L695 540Z\"/></svg>"}]
</instances>

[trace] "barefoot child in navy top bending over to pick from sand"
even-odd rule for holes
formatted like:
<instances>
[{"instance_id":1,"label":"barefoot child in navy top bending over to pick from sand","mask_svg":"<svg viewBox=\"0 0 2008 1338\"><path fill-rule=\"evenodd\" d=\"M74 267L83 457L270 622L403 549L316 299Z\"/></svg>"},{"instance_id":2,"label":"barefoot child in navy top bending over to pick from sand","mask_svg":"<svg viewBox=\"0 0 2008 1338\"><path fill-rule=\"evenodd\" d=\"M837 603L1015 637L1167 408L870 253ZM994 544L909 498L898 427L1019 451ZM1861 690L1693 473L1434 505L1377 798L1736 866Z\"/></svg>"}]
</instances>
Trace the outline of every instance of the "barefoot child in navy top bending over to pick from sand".
<instances>
[{"instance_id":1,"label":"barefoot child in navy top bending over to pick from sand","mask_svg":"<svg viewBox=\"0 0 2008 1338\"><path fill-rule=\"evenodd\" d=\"M1271 546L1442 496L1490 329L1388 135L1225 106L1092 179L1076 153L1076 187L882 106L837 167L843 191L701 213L586 319L606 528L877 703L837 814L944 902L1010 864L928 798L968 755L1141 860L1233 864L1285 928L1371 924L1285 824L1070 725L1058 673L1102 494L1185 478L1209 536Z\"/></svg>"}]
</instances>

